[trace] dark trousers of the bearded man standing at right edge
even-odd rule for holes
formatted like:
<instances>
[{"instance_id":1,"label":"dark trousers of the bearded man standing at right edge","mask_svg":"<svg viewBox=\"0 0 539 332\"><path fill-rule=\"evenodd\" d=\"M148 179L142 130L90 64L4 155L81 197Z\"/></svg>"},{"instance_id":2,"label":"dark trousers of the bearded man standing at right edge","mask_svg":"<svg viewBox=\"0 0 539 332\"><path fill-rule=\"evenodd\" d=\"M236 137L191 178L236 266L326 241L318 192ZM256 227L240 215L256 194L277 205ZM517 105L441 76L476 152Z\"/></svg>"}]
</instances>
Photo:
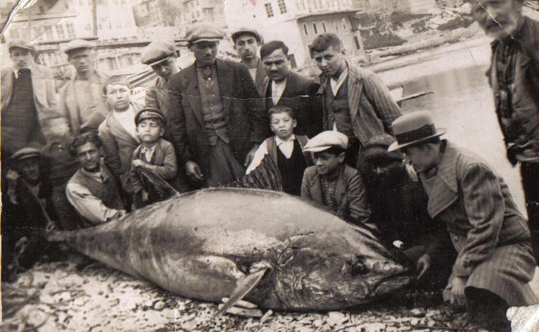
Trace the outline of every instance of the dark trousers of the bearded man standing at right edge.
<instances>
[{"instance_id":1,"label":"dark trousers of the bearded man standing at right edge","mask_svg":"<svg viewBox=\"0 0 539 332\"><path fill-rule=\"evenodd\" d=\"M539 163L521 163L522 188L535 262L539 263Z\"/></svg>"}]
</instances>

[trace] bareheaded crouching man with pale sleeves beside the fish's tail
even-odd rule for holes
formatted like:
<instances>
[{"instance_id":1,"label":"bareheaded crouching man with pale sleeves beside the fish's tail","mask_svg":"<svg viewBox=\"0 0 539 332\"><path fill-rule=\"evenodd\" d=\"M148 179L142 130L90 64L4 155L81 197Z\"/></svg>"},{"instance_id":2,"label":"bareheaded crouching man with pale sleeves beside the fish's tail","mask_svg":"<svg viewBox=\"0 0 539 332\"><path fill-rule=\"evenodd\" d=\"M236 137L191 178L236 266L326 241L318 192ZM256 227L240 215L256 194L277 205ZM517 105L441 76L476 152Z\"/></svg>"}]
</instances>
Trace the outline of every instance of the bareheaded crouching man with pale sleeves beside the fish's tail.
<instances>
[{"instance_id":1,"label":"bareheaded crouching man with pale sleeves beside the fish's tail","mask_svg":"<svg viewBox=\"0 0 539 332\"><path fill-rule=\"evenodd\" d=\"M83 227L108 222L125 214L120 185L101 159L101 139L93 132L75 137L69 154L79 170L69 179L67 199L84 218Z\"/></svg>"}]
</instances>

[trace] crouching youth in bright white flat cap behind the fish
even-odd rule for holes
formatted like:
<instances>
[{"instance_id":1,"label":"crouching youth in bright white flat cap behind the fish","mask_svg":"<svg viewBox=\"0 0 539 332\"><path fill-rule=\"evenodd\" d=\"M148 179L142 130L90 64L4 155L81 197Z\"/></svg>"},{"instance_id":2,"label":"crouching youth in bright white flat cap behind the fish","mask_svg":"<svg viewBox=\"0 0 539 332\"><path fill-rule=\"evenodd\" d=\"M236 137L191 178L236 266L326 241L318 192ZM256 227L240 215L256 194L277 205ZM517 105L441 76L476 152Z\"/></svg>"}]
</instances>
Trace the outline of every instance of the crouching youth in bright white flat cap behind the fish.
<instances>
[{"instance_id":1,"label":"crouching youth in bright white flat cap behind the fish","mask_svg":"<svg viewBox=\"0 0 539 332\"><path fill-rule=\"evenodd\" d=\"M353 224L369 225L370 207L365 185L355 168L344 164L348 137L336 130L313 137L303 151L312 152L314 166L307 167L301 197L317 202Z\"/></svg>"}]
</instances>

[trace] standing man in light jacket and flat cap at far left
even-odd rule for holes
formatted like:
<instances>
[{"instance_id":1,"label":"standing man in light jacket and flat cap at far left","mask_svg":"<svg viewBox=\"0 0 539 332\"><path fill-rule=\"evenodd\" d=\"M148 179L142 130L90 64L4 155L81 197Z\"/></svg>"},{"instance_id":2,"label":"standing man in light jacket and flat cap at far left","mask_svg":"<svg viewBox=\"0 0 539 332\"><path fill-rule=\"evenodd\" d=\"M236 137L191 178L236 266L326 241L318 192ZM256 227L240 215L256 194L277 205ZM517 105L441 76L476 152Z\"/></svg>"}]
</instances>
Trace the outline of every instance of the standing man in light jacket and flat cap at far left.
<instances>
[{"instance_id":1,"label":"standing man in light jacket and flat cap at far left","mask_svg":"<svg viewBox=\"0 0 539 332\"><path fill-rule=\"evenodd\" d=\"M62 137L66 129L57 113L52 71L34 62L28 42L12 40L8 50L13 67L1 68L1 159L6 169L15 151Z\"/></svg>"}]
</instances>

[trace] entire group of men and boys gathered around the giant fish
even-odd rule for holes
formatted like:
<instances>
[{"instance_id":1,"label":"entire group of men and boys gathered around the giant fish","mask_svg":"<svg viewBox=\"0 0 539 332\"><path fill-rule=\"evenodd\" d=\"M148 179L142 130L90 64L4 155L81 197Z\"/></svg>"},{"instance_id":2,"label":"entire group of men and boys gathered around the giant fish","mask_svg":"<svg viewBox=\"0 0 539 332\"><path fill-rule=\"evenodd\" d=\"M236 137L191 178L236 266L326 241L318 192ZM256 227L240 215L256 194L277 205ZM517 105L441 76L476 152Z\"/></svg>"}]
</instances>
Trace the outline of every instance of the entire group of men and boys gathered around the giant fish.
<instances>
[{"instance_id":1,"label":"entire group of men and boys gathered around the giant fish","mask_svg":"<svg viewBox=\"0 0 539 332\"><path fill-rule=\"evenodd\" d=\"M33 47L12 41L13 69L1 71L3 266L40 243L30 239L47 223L89 227L156 202L163 188L152 178L181 192L215 187L271 159L283 190L373 229L419 277L449 266L444 299L465 304L478 326L507 328L507 307L537 302L527 283L539 261L539 23L522 7L480 0L473 15L494 37L489 83L507 156L521 164L528 223L492 168L441 139L429 112L402 115L336 35L312 42L318 81L252 28L231 35L241 62L219 59L222 31L194 24L191 66L177 67L172 43L144 50L158 75L144 105L128 81L94 69L92 42L64 48L76 72L56 96Z\"/></svg>"}]
</instances>

